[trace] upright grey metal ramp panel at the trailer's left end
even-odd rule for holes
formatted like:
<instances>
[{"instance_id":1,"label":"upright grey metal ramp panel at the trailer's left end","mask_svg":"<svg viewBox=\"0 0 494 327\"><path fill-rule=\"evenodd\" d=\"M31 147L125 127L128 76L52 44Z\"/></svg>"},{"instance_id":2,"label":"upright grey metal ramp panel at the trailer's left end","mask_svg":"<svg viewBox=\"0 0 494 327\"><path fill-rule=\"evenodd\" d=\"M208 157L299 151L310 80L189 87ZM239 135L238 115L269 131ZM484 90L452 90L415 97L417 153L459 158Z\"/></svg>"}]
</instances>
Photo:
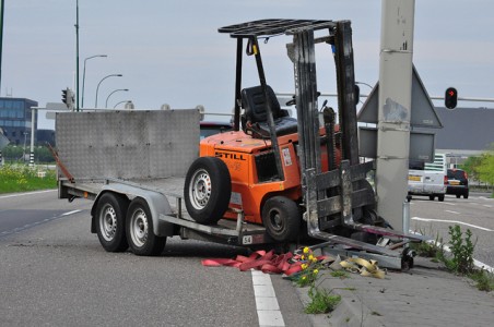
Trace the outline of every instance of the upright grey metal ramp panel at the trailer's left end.
<instances>
[{"instance_id":1,"label":"upright grey metal ramp panel at the trailer's left end","mask_svg":"<svg viewBox=\"0 0 494 327\"><path fill-rule=\"evenodd\" d=\"M199 155L199 112L59 112L56 141L75 178L183 177Z\"/></svg>"}]
</instances>

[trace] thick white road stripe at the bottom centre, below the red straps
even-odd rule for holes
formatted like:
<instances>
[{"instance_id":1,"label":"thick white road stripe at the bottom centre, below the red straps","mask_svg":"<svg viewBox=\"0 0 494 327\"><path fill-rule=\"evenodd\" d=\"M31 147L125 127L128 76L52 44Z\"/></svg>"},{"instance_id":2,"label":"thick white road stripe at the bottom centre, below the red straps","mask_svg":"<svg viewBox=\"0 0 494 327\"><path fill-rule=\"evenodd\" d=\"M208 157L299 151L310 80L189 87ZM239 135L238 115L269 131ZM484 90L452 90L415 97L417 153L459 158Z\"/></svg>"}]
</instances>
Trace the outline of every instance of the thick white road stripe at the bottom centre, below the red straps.
<instances>
[{"instance_id":1,"label":"thick white road stripe at the bottom centre, below the red straps","mask_svg":"<svg viewBox=\"0 0 494 327\"><path fill-rule=\"evenodd\" d=\"M285 323L278 304L271 276L259 270L252 270L252 286L259 326L284 327Z\"/></svg>"}]
</instances>

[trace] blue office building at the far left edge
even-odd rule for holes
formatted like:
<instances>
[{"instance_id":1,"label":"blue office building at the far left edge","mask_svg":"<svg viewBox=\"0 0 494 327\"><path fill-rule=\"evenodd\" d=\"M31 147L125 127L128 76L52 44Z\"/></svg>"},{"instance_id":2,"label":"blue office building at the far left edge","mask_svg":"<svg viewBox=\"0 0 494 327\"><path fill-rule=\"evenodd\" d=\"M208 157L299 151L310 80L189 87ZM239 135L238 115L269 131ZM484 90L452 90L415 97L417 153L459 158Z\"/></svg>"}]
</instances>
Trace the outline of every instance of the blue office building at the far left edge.
<instances>
[{"instance_id":1,"label":"blue office building at the far left edge","mask_svg":"<svg viewBox=\"0 0 494 327\"><path fill-rule=\"evenodd\" d=\"M11 144L30 145L31 108L37 106L38 102L25 98L0 98L0 128ZM34 130L37 130L37 116Z\"/></svg>"}]
</instances>

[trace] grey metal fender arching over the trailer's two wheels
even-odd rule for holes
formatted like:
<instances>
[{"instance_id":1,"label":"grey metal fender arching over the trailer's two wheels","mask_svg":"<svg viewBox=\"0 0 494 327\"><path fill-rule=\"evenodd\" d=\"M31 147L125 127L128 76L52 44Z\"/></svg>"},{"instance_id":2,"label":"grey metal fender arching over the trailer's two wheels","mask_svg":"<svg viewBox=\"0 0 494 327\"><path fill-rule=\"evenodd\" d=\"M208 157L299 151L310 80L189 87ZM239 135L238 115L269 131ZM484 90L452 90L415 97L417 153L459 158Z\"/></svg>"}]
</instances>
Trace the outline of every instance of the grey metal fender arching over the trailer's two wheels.
<instances>
[{"instance_id":1,"label":"grey metal fender arching over the trailer's two wheels","mask_svg":"<svg viewBox=\"0 0 494 327\"><path fill-rule=\"evenodd\" d=\"M174 235L174 225L170 222L162 221L158 219L160 215L172 215L173 210L169 206L169 202L166 196L160 192L154 192L150 190L143 190L132 185L126 184L106 184L102 187L102 191L96 196L93 207L91 208L92 225L91 231L95 231L94 227L94 214L96 211L97 203L101 196L107 192L118 193L127 196L129 199L136 197L142 197L149 205L151 210L151 216L153 219L153 230L157 237L173 237Z\"/></svg>"}]
</instances>

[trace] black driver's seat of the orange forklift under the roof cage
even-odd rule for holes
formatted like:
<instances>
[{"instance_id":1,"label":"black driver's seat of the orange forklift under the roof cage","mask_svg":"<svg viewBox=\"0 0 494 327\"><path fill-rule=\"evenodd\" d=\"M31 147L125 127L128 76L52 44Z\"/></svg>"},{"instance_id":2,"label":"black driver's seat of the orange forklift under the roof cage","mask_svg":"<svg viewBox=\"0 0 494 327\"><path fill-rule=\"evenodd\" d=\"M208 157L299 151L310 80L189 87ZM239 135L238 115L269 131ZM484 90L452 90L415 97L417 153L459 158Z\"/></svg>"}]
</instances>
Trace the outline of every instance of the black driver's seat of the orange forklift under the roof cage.
<instances>
[{"instance_id":1,"label":"black driver's seat of the orange forklift under the roof cage","mask_svg":"<svg viewBox=\"0 0 494 327\"><path fill-rule=\"evenodd\" d=\"M296 133L296 119L291 118L286 110L280 108L280 102L278 102L273 89L269 85L266 85L266 87L268 90L268 101L270 101L273 113L277 136ZM244 132L257 138L269 137L268 111L262 86L244 88L242 90L242 107L244 108L244 114L242 117Z\"/></svg>"}]
</instances>

